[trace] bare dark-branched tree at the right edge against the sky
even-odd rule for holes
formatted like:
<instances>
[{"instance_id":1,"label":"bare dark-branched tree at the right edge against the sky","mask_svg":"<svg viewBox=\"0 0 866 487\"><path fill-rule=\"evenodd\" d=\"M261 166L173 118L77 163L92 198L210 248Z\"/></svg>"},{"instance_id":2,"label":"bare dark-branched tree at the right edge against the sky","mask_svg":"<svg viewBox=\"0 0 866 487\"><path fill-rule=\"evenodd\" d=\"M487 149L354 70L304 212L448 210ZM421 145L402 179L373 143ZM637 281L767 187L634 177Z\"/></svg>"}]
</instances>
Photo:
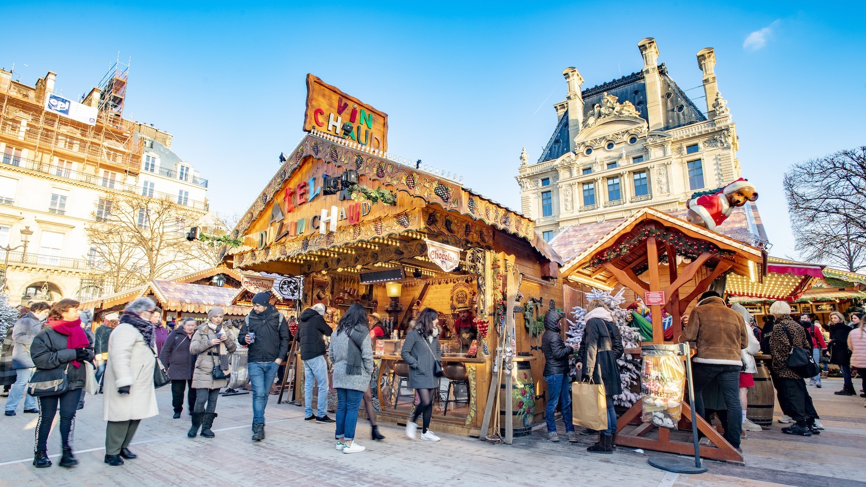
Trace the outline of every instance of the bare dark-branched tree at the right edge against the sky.
<instances>
[{"instance_id":1,"label":"bare dark-branched tree at the right edge against the sky","mask_svg":"<svg viewBox=\"0 0 866 487\"><path fill-rule=\"evenodd\" d=\"M794 165L784 186L801 256L866 268L866 146Z\"/></svg>"}]
</instances>

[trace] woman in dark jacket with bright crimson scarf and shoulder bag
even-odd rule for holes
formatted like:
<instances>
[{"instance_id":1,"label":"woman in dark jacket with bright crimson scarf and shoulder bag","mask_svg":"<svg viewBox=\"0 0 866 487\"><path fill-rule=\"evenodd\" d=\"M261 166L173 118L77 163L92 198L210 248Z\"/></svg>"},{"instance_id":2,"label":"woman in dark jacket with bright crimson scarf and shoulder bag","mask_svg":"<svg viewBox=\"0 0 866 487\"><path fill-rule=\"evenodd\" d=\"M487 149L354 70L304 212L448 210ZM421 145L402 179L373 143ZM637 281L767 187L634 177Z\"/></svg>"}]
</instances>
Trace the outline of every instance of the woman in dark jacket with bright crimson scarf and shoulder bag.
<instances>
[{"instance_id":1,"label":"woman in dark jacket with bright crimson scarf and shoulder bag","mask_svg":"<svg viewBox=\"0 0 866 487\"><path fill-rule=\"evenodd\" d=\"M63 368L66 370L67 387L61 393L39 398L39 422L36 424L36 448L33 465L42 469L51 466L48 460L48 433L58 408L60 409L60 432L63 456L61 467L78 464L72 455L75 411L78 400L84 393L87 379L84 362L93 363L94 346L87 340L81 328L81 303L74 299L61 299L51 307L45 328L36 334L30 344L30 358L36 371Z\"/></svg>"}]
</instances>

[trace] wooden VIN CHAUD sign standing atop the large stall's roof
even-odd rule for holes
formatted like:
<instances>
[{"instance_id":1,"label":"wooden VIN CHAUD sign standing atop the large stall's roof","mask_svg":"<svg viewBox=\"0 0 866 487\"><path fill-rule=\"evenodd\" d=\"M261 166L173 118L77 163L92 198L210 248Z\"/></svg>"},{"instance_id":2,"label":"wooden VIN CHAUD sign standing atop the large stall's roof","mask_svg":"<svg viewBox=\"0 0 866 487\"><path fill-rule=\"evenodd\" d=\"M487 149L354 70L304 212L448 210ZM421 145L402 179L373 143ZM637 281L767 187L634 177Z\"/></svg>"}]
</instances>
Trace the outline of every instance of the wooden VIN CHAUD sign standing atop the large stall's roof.
<instances>
[{"instance_id":1,"label":"wooden VIN CHAUD sign standing atop the large stall's roof","mask_svg":"<svg viewBox=\"0 0 866 487\"><path fill-rule=\"evenodd\" d=\"M348 125L346 125L348 124ZM351 132L347 130L351 127ZM307 111L304 132L331 133L380 151L388 150L388 114L343 93L339 88L307 75Z\"/></svg>"}]
</instances>

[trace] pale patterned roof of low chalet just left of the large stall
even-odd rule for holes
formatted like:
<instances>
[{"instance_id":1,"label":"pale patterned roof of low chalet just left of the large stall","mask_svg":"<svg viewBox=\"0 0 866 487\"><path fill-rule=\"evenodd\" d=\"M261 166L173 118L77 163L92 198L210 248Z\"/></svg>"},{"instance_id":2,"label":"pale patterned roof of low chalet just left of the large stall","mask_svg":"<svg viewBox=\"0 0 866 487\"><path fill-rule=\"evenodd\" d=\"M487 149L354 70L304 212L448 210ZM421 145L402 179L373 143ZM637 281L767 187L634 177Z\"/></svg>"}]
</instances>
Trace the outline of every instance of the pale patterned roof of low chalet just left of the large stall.
<instances>
[{"instance_id":1,"label":"pale patterned roof of low chalet just left of the large stall","mask_svg":"<svg viewBox=\"0 0 866 487\"><path fill-rule=\"evenodd\" d=\"M219 306L226 315L247 315L250 308L232 304L242 289L219 288L186 282L152 281L143 295L153 294L159 305L167 311L207 313Z\"/></svg>"}]
</instances>

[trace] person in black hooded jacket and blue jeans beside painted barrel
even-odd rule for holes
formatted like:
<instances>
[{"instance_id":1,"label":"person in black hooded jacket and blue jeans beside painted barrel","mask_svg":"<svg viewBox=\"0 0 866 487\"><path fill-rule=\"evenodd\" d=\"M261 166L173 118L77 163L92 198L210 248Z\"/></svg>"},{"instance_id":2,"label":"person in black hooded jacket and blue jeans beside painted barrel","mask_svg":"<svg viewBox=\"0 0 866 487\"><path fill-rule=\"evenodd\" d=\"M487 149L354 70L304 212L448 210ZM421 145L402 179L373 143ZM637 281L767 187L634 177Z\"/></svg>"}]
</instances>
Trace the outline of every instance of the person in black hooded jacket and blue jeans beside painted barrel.
<instances>
[{"instance_id":1,"label":"person in black hooded jacket and blue jeans beside painted barrel","mask_svg":"<svg viewBox=\"0 0 866 487\"><path fill-rule=\"evenodd\" d=\"M556 420L553 413L556 406L562 412L562 422L565 423L565 436L572 443L578 442L578 434L572 425L572 388L568 380L568 358L577 350L575 344L565 345L559 334L559 320L562 314L550 309L544 316L544 334L541 336L541 351L544 352L544 380L547 383L547 406L545 421L547 422L547 438L559 441L556 434Z\"/></svg>"}]
</instances>

